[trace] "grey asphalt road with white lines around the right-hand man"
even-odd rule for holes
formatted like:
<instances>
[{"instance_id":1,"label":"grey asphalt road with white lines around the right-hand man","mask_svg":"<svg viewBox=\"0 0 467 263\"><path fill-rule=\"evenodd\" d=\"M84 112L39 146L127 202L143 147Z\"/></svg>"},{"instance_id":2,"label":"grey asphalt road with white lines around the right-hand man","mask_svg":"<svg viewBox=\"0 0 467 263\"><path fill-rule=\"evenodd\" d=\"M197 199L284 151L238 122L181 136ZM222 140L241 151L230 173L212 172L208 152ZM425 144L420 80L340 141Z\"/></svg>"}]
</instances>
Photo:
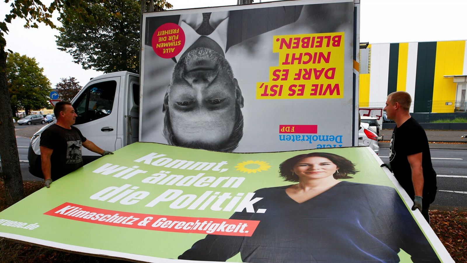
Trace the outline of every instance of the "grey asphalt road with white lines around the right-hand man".
<instances>
[{"instance_id":1,"label":"grey asphalt road with white lines around the right-hand man","mask_svg":"<svg viewBox=\"0 0 467 263\"><path fill-rule=\"evenodd\" d=\"M438 193L430 209L467 211L467 151L431 149ZM379 157L389 161L389 148L380 148Z\"/></svg>"}]
</instances>

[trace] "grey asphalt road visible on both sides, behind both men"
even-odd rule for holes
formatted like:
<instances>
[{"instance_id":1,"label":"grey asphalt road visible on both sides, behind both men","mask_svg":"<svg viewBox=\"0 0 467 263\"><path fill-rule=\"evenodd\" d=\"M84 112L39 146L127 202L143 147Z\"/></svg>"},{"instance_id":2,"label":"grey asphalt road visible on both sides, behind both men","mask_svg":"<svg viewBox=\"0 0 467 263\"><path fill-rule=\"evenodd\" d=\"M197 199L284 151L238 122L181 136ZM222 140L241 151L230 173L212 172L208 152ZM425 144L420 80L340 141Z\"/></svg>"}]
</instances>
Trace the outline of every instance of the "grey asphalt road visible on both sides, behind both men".
<instances>
[{"instance_id":1,"label":"grey asphalt road visible on both sides, behind both men","mask_svg":"<svg viewBox=\"0 0 467 263\"><path fill-rule=\"evenodd\" d=\"M25 181L42 180L28 171L29 137L42 126L44 125L15 126L21 173ZM467 211L467 150L431 149L431 154L433 167L438 174L438 193L430 209L451 210L458 207ZM380 147L379 156L383 162L389 161L389 148Z\"/></svg>"}]
</instances>

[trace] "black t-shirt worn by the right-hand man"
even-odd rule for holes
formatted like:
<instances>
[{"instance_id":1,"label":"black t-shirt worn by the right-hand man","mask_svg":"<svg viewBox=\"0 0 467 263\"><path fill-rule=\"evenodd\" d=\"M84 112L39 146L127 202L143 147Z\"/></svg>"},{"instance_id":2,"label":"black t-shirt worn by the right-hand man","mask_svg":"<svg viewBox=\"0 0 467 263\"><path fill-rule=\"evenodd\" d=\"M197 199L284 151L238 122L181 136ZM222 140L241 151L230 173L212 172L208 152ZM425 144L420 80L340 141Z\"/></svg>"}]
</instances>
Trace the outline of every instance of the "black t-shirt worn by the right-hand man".
<instances>
[{"instance_id":1,"label":"black t-shirt worn by the right-hand man","mask_svg":"<svg viewBox=\"0 0 467 263\"><path fill-rule=\"evenodd\" d=\"M436 172L432 166L428 139L422 126L414 118L395 127L389 145L389 161L394 176L407 194L413 199L415 192L408 155L422 153L423 202L431 204L436 195Z\"/></svg>"}]
</instances>

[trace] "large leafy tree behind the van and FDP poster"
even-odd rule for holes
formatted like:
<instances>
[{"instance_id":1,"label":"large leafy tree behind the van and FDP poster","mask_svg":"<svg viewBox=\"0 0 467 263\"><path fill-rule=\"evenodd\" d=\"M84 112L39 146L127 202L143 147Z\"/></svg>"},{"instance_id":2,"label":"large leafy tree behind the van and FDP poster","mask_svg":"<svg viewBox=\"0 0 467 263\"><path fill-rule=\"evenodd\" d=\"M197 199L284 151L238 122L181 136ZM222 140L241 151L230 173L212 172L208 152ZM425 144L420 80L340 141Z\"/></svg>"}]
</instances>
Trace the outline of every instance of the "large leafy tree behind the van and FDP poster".
<instances>
[{"instance_id":1,"label":"large leafy tree behind the van and FDP poster","mask_svg":"<svg viewBox=\"0 0 467 263\"><path fill-rule=\"evenodd\" d=\"M73 56L84 69L105 73L139 72L140 12L137 0L85 0L90 14L65 7L63 27L57 36L59 50ZM165 0L154 1L157 9L170 8Z\"/></svg>"}]
</instances>

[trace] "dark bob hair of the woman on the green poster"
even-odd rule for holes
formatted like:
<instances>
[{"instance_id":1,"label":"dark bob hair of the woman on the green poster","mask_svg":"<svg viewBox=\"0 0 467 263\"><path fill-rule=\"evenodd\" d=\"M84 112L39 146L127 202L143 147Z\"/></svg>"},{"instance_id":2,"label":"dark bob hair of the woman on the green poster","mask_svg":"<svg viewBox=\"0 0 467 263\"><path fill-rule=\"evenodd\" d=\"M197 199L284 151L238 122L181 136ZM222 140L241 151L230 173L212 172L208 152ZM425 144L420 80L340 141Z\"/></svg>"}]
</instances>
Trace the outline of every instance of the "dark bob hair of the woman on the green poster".
<instances>
[{"instance_id":1,"label":"dark bob hair of the woman on the green poster","mask_svg":"<svg viewBox=\"0 0 467 263\"><path fill-rule=\"evenodd\" d=\"M306 153L289 158L279 165L279 174L284 178L284 181L298 182L298 175L292 173L293 167L298 161L308 157L327 158L337 165L337 167L339 167L339 173L335 172L333 174L335 179L353 178L352 176L348 176L348 174L354 175L358 172L355 170L355 165L351 161L340 155L334 153Z\"/></svg>"}]
</instances>

